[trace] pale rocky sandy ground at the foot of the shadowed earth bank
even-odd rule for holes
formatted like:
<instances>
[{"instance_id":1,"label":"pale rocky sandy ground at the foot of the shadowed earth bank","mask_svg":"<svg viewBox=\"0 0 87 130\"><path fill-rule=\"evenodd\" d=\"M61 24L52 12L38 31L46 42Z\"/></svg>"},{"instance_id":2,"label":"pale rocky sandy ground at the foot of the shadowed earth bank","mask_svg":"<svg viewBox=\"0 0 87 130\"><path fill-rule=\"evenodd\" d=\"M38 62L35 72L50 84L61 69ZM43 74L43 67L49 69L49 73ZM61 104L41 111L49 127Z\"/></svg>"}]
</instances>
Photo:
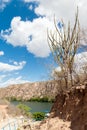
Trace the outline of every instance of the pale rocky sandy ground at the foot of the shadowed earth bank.
<instances>
[{"instance_id":1,"label":"pale rocky sandy ground at the foot of the shadowed earth bank","mask_svg":"<svg viewBox=\"0 0 87 130\"><path fill-rule=\"evenodd\" d=\"M42 122L29 122L23 124L20 130L71 130L70 122L56 118L48 118Z\"/></svg>"}]
</instances>

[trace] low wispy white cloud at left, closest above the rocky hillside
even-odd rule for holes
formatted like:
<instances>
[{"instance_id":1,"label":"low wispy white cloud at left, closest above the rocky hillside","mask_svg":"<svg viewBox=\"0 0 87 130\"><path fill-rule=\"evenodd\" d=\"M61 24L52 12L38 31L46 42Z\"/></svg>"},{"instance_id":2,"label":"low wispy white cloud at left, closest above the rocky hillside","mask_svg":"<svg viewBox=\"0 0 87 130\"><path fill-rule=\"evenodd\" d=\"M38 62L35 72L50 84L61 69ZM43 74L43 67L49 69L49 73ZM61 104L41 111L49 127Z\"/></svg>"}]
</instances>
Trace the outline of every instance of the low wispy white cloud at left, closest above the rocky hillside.
<instances>
[{"instance_id":1,"label":"low wispy white cloud at left, closest above the rocky hillside","mask_svg":"<svg viewBox=\"0 0 87 130\"><path fill-rule=\"evenodd\" d=\"M21 83L27 83L28 80L23 79L22 76L19 76L17 78L9 78L3 82L3 80L0 81L0 87L6 87L13 84L21 84Z\"/></svg>"}]
</instances>

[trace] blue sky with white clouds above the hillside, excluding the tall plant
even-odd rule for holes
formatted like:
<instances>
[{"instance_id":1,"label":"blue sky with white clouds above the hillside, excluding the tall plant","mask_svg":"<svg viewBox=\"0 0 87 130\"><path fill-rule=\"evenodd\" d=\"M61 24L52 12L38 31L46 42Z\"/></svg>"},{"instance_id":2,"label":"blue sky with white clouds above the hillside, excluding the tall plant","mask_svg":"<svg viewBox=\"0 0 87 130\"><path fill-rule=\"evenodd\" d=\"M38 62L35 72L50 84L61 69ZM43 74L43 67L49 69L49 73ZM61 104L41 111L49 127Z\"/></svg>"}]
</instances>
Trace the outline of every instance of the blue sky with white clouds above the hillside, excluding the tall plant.
<instances>
[{"instance_id":1,"label":"blue sky with white clouds above the hillside, excluding the tall plant","mask_svg":"<svg viewBox=\"0 0 87 130\"><path fill-rule=\"evenodd\" d=\"M54 14L57 21L63 18L73 24L77 5L81 26L85 27L87 18L82 16L87 12L86 0L0 0L1 87L49 79L49 64L54 62L47 28L54 28Z\"/></svg>"}]
</instances>

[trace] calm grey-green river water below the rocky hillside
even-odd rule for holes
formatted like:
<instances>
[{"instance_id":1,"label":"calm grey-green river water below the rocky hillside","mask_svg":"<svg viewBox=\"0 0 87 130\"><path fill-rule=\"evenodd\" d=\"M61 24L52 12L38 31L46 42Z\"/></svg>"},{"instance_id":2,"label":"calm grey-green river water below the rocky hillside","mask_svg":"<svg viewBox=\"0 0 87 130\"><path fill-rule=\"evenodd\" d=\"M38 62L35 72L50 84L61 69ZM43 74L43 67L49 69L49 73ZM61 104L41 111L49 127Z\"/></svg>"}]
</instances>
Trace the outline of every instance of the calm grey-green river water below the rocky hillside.
<instances>
[{"instance_id":1,"label":"calm grey-green river water below the rocky hillside","mask_svg":"<svg viewBox=\"0 0 87 130\"><path fill-rule=\"evenodd\" d=\"M13 101L12 104L18 105L20 102ZM49 102L22 102L31 108L31 112L50 112L53 103Z\"/></svg>"}]
</instances>

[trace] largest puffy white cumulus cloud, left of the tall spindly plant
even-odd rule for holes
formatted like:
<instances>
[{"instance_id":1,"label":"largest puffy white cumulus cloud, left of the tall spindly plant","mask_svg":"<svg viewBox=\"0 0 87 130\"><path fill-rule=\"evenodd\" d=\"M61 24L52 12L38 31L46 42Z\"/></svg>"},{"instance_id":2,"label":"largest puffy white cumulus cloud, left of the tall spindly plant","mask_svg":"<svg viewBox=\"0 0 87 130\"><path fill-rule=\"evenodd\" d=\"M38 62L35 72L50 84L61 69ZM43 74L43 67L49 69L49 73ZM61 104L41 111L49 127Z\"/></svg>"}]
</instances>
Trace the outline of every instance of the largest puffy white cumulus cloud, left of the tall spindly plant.
<instances>
[{"instance_id":1,"label":"largest puffy white cumulus cloud, left of the tall spindly plant","mask_svg":"<svg viewBox=\"0 0 87 130\"><path fill-rule=\"evenodd\" d=\"M37 18L32 22L22 21L21 17L14 17L11 28L2 30L1 36L13 46L26 46L27 50L36 57L47 57L50 49L47 43L47 27L53 24L47 18Z\"/></svg>"}]
</instances>

